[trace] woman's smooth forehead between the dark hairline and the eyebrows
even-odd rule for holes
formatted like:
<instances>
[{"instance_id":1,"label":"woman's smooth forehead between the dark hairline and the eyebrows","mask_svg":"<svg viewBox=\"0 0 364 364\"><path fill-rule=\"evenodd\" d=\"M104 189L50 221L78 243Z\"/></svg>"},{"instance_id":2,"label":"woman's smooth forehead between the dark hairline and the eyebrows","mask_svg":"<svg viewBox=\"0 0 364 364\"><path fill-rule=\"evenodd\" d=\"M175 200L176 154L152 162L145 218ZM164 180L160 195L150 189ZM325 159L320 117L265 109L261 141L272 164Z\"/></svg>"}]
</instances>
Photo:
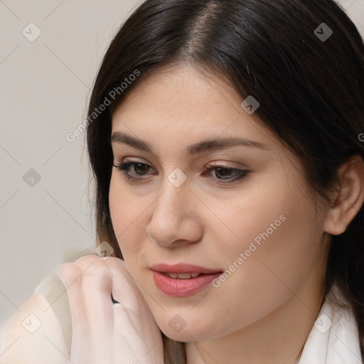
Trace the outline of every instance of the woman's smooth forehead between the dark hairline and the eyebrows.
<instances>
[{"instance_id":1,"label":"woman's smooth forehead between the dark hairline and the eyebrows","mask_svg":"<svg viewBox=\"0 0 364 364\"><path fill-rule=\"evenodd\" d=\"M179 66L139 81L115 109L113 132L134 132L146 139L163 134L193 142L221 136L279 144L254 114L242 109L235 90L213 74L206 77L196 68Z\"/></svg>"}]
</instances>

